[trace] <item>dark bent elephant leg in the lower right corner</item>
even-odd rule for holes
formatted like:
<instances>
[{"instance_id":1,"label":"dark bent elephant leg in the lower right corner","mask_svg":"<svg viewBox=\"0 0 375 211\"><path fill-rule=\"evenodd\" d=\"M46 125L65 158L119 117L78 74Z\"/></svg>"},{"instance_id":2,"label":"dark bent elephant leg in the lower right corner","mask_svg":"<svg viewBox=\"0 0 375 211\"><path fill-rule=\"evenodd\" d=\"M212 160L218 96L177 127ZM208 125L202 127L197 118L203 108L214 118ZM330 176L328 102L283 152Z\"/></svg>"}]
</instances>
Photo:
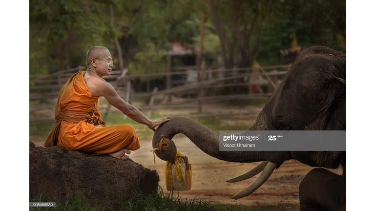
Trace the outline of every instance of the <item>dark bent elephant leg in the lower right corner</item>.
<instances>
[{"instance_id":1,"label":"dark bent elephant leg in the lower right corner","mask_svg":"<svg viewBox=\"0 0 375 211\"><path fill-rule=\"evenodd\" d=\"M346 177L312 169L299 185L300 211L345 211Z\"/></svg>"}]
</instances>

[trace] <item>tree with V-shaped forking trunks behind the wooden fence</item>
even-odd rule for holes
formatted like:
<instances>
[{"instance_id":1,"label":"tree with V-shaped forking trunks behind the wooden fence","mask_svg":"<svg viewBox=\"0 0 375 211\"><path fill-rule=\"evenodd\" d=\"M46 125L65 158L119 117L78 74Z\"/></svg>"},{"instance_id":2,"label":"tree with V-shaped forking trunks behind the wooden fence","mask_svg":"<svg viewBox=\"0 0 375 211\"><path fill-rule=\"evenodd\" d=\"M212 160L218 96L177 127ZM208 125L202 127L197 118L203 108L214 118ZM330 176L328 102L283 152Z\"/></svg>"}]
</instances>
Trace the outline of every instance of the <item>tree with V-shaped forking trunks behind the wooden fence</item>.
<instances>
[{"instance_id":1,"label":"tree with V-shaped forking trunks behind the wooden fence","mask_svg":"<svg viewBox=\"0 0 375 211\"><path fill-rule=\"evenodd\" d=\"M225 67L251 66L271 1L208 0L208 3Z\"/></svg>"}]
</instances>

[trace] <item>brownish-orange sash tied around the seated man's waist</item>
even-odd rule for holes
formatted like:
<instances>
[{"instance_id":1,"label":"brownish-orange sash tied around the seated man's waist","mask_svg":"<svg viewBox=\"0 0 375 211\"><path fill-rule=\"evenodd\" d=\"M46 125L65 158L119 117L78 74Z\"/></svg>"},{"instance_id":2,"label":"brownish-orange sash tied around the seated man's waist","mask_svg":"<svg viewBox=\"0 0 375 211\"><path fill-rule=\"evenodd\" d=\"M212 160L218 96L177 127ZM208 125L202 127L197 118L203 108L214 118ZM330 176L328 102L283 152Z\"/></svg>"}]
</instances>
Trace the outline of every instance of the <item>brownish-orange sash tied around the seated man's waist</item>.
<instances>
[{"instance_id":1,"label":"brownish-orange sash tied around the seated man's waist","mask_svg":"<svg viewBox=\"0 0 375 211\"><path fill-rule=\"evenodd\" d=\"M51 147L56 146L58 142L58 137L60 133L61 121L66 121L68 123L77 124L80 121L88 122L95 126L102 125L105 126L105 122L96 117L94 115L94 111L89 113L81 112L81 111L72 111L72 110L65 110L60 111L55 116L55 126L52 128L51 133L48 135L47 139L45 140L44 147Z\"/></svg>"}]
</instances>

